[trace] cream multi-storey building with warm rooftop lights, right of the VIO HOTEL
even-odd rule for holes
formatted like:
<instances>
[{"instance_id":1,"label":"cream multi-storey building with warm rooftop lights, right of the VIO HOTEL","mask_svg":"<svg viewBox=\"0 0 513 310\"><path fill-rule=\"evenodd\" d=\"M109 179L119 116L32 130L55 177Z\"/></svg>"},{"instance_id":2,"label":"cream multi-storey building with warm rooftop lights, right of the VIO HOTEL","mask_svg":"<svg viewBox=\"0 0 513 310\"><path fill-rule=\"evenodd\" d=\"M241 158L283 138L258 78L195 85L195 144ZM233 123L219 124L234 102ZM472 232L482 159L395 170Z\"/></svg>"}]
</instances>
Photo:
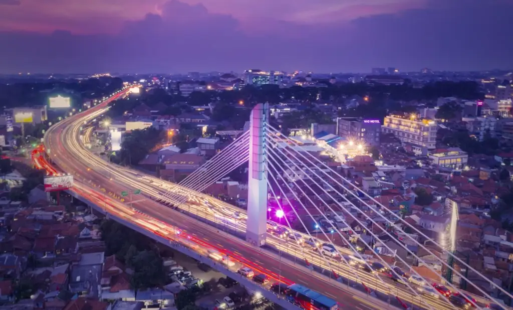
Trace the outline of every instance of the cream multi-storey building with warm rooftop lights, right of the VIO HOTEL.
<instances>
[{"instance_id":1,"label":"cream multi-storey building with warm rooftop lights, right of the VIO HOTEL","mask_svg":"<svg viewBox=\"0 0 513 310\"><path fill-rule=\"evenodd\" d=\"M381 126L384 133L393 133L403 144L413 145L413 152L420 153L422 148L434 149L437 141L437 122L419 119L416 114L388 115ZM415 146L419 147L416 148Z\"/></svg>"}]
</instances>

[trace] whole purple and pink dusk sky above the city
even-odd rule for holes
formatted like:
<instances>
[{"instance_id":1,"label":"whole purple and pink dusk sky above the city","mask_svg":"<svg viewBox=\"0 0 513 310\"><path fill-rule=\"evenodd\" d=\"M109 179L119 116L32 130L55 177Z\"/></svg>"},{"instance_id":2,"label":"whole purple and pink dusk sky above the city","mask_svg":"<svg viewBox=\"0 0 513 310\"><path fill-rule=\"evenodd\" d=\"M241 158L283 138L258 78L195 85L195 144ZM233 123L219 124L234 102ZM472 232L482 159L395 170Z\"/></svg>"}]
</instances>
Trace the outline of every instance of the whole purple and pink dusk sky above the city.
<instances>
[{"instance_id":1,"label":"whole purple and pink dusk sky above the city","mask_svg":"<svg viewBox=\"0 0 513 310\"><path fill-rule=\"evenodd\" d=\"M513 0L0 0L0 73L513 68Z\"/></svg>"}]
</instances>

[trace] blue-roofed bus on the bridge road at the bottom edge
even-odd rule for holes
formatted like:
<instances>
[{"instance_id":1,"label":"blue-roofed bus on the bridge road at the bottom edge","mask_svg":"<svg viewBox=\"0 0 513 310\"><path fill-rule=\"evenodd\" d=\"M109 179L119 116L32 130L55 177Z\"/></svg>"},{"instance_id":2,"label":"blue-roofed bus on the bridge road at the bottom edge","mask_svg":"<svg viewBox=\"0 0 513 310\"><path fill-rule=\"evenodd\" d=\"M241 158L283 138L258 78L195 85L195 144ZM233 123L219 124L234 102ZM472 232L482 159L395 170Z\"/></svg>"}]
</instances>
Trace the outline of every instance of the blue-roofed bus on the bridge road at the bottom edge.
<instances>
[{"instance_id":1,"label":"blue-roofed bus on the bridge road at the bottom edge","mask_svg":"<svg viewBox=\"0 0 513 310\"><path fill-rule=\"evenodd\" d=\"M300 284L288 288L287 299L299 303L306 310L337 310L339 304L333 299Z\"/></svg>"}]
</instances>

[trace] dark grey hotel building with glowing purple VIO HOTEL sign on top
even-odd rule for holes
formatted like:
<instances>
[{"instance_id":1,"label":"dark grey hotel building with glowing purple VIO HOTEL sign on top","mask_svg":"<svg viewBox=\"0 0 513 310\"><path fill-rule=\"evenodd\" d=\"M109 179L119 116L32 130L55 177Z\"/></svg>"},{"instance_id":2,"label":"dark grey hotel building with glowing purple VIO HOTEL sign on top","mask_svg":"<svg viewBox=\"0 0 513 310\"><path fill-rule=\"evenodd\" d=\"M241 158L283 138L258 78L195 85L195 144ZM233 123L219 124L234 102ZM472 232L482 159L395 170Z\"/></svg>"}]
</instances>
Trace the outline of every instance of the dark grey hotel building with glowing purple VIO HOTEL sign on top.
<instances>
[{"instance_id":1,"label":"dark grey hotel building with glowing purple VIO HOTEL sign on top","mask_svg":"<svg viewBox=\"0 0 513 310\"><path fill-rule=\"evenodd\" d=\"M380 120L337 118L337 135L340 137L353 138L365 145L379 145L380 133Z\"/></svg>"}]
</instances>

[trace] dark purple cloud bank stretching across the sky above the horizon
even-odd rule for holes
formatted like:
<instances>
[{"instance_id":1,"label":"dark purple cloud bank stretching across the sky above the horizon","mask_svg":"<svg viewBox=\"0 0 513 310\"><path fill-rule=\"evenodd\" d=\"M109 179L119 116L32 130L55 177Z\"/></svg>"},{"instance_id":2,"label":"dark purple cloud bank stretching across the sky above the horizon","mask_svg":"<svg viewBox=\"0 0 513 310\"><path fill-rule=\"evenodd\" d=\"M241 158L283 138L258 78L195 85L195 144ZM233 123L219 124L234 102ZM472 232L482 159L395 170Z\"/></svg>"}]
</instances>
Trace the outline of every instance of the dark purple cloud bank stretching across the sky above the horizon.
<instances>
[{"instance_id":1,"label":"dark purple cloud bank stretching across the sky above the horizon","mask_svg":"<svg viewBox=\"0 0 513 310\"><path fill-rule=\"evenodd\" d=\"M0 33L0 68L91 73L513 68L510 0L429 0L422 7L388 13L374 8L366 17L318 24L257 16L242 22L207 7L171 0L112 34ZM108 25L103 19L97 24Z\"/></svg>"}]
</instances>

